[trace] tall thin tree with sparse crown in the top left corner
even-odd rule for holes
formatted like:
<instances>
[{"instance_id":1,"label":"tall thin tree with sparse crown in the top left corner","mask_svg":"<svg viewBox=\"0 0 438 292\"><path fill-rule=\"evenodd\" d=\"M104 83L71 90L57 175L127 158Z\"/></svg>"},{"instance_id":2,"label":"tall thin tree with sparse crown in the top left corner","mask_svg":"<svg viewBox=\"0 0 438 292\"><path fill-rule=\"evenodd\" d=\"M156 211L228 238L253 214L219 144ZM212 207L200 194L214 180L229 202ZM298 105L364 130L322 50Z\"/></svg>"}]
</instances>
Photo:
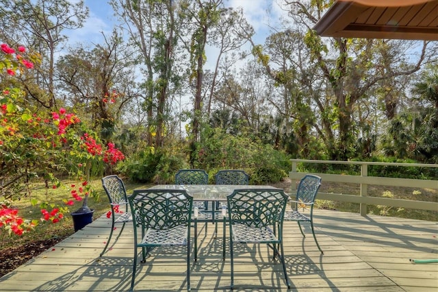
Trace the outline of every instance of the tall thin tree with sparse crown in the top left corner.
<instances>
[{"instance_id":1,"label":"tall thin tree with sparse crown in the top left corner","mask_svg":"<svg viewBox=\"0 0 438 292\"><path fill-rule=\"evenodd\" d=\"M31 84L26 82L29 95L42 106L54 108L55 53L66 41L62 34L64 29L82 27L88 17L88 8L83 0L76 3L67 0L0 0L0 3L0 15L8 15L8 21L3 21L0 38L18 40L18 43L38 51L42 58L42 67L36 66L38 73L34 81ZM38 87L48 95L42 94Z\"/></svg>"}]
</instances>

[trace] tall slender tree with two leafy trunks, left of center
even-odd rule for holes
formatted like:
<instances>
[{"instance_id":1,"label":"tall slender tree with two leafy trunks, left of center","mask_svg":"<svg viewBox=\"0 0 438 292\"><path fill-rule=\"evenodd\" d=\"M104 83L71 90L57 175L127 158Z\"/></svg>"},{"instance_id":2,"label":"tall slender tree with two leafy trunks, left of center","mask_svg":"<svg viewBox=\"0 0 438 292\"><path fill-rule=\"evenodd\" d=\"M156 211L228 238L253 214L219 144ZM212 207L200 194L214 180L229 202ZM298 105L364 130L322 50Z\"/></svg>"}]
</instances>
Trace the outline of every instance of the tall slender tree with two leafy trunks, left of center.
<instances>
[{"instance_id":1,"label":"tall slender tree with two leafy trunks, left of center","mask_svg":"<svg viewBox=\"0 0 438 292\"><path fill-rule=\"evenodd\" d=\"M131 43L138 49L138 60L144 65L148 145L153 145L155 132L155 146L162 147L169 90L179 86L173 68L179 27L175 1L112 0L111 4L127 25Z\"/></svg>"}]
</instances>

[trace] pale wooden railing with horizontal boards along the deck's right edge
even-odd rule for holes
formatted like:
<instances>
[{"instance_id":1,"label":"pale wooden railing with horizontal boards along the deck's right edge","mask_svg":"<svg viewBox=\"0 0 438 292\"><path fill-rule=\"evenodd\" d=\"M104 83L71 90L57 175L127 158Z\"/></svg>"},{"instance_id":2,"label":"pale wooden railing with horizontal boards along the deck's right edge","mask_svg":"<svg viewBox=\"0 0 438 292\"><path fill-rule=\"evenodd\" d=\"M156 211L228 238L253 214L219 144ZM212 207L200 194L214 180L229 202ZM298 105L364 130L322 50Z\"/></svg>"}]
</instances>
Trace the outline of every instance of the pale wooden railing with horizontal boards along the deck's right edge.
<instances>
[{"instance_id":1,"label":"pale wooden railing with horizontal boards along the deck's right edge","mask_svg":"<svg viewBox=\"0 0 438 292\"><path fill-rule=\"evenodd\" d=\"M362 216L367 215L367 205L384 205L393 206L399 208L411 208L419 210L435 210L438 211L437 202L424 202L410 199L392 199L387 197L369 197L368 185L381 185L381 186L402 186L410 188L431 188L438 190L438 180L420 180L411 178L387 178L368 176L369 165L381 165L391 167L432 167L438 168L438 165L424 164L424 163L397 163L397 162L365 162L365 161L337 161L337 160L307 160L307 159L291 159L292 171L289 172L289 178L292 182L300 180L306 174L305 172L298 172L298 163L315 163L324 165L359 165L361 172L360 175L342 175L342 174L329 174L329 173L311 173L319 175L322 178L322 182L343 182L359 184L360 194L344 194L344 193L318 193L318 199L325 199L329 201L350 202L360 205L360 214ZM296 184L292 183L292 193L296 193Z\"/></svg>"}]
</instances>

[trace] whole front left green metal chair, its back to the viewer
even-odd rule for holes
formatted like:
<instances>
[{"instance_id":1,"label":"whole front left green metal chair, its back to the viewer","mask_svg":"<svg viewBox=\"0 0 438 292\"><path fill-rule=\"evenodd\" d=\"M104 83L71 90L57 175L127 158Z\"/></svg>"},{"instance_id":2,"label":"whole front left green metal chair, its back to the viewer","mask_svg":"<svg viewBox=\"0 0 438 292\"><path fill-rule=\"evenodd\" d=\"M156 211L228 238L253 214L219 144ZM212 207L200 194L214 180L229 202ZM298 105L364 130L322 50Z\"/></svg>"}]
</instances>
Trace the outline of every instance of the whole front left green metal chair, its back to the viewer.
<instances>
[{"instance_id":1,"label":"whole front left green metal chair, its back to the viewer","mask_svg":"<svg viewBox=\"0 0 438 292\"><path fill-rule=\"evenodd\" d=\"M187 289L190 291L190 220L193 197L184 190L136 190L128 197L133 215L134 260L131 291L136 280L138 248L142 263L154 247L182 246L187 250ZM141 229L141 238L137 228Z\"/></svg>"}]
</instances>

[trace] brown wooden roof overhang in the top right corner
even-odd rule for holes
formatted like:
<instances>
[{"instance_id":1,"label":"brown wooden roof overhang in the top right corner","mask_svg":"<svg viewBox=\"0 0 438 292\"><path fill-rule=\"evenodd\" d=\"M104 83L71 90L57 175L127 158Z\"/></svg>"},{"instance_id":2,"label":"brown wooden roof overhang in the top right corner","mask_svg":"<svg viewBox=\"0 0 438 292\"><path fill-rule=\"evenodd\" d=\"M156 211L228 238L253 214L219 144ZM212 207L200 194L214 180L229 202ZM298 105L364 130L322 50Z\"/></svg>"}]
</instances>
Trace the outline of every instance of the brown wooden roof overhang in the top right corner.
<instances>
[{"instance_id":1,"label":"brown wooden roof overhang in the top right corner","mask_svg":"<svg viewBox=\"0 0 438 292\"><path fill-rule=\"evenodd\" d=\"M337 0L313 29L335 38L438 40L438 0Z\"/></svg>"}]
</instances>

